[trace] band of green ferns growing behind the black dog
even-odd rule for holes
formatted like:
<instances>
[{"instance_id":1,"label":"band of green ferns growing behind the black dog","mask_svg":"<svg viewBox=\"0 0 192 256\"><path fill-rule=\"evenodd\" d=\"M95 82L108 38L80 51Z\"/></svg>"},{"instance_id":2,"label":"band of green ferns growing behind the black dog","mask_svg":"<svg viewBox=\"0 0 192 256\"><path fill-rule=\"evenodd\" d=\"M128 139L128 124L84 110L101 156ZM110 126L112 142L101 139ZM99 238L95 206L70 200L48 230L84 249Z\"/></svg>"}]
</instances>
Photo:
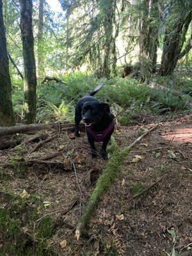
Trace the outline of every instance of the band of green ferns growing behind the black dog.
<instances>
[{"instance_id":1,"label":"band of green ferns growing behind the black dog","mask_svg":"<svg viewBox=\"0 0 192 256\"><path fill-rule=\"evenodd\" d=\"M74 108L79 98L93 90L98 79L91 74L76 72L60 77L63 84L50 81L39 84L37 121L49 122L54 120L72 120ZM164 115L188 112L188 102L191 101L192 84L179 76L154 77L154 81L168 88L161 91L150 88L148 84L140 83L130 77L115 77L104 82L103 88L95 95L103 102L108 102L111 111L115 113L118 121L128 125L142 113ZM14 81L13 104L15 111L20 113L22 108L22 84ZM175 91L181 93L176 95Z\"/></svg>"}]
</instances>

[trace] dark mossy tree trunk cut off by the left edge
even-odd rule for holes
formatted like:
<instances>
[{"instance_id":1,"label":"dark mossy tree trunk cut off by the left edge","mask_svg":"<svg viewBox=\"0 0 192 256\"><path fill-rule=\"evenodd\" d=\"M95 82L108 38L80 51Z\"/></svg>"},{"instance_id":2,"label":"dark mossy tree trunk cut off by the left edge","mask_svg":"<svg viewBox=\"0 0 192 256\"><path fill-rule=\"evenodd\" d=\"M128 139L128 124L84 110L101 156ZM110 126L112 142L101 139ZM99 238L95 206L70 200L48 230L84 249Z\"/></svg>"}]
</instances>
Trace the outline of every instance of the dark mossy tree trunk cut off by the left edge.
<instances>
[{"instance_id":1,"label":"dark mossy tree trunk cut off by the left edge","mask_svg":"<svg viewBox=\"0 0 192 256\"><path fill-rule=\"evenodd\" d=\"M3 20L3 2L0 0L0 126L15 125L12 104L12 84L6 50L6 36Z\"/></svg>"}]
</instances>

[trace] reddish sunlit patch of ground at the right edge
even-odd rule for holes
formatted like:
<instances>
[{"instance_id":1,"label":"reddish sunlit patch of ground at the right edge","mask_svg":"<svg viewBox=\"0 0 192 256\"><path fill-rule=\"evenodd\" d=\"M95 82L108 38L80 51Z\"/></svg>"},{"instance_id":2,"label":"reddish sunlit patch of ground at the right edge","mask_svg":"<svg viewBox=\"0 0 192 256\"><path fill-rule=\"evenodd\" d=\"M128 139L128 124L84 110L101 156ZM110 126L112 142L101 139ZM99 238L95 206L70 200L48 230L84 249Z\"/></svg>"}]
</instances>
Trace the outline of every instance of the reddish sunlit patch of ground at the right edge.
<instances>
[{"instance_id":1,"label":"reddish sunlit patch of ground at the right edge","mask_svg":"<svg viewBox=\"0 0 192 256\"><path fill-rule=\"evenodd\" d=\"M165 131L161 136L175 143L192 143L192 127Z\"/></svg>"}]
</instances>

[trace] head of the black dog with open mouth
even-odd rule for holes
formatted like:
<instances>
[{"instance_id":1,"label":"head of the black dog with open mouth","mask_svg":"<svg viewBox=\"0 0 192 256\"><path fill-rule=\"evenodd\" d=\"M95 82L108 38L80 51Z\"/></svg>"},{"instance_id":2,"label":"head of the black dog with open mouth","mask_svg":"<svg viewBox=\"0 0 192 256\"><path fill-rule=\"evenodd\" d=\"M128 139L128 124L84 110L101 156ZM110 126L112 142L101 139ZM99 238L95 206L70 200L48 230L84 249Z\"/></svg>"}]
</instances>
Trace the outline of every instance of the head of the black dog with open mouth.
<instances>
[{"instance_id":1,"label":"head of the black dog with open mouth","mask_svg":"<svg viewBox=\"0 0 192 256\"><path fill-rule=\"evenodd\" d=\"M86 126L97 123L104 116L104 113L110 112L109 105L96 101L85 102L81 109L81 117Z\"/></svg>"}]
</instances>

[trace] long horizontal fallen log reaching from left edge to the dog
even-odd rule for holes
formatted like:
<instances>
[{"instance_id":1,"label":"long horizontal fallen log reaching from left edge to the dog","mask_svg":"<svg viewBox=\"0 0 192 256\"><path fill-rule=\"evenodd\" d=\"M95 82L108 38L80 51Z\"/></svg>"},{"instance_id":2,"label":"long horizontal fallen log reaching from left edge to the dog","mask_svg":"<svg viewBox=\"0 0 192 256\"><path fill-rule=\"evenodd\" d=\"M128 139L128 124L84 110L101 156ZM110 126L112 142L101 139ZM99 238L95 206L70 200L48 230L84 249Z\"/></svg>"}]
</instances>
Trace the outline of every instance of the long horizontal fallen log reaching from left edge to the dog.
<instances>
[{"instance_id":1,"label":"long horizontal fallen log reaching from left edge to the dog","mask_svg":"<svg viewBox=\"0 0 192 256\"><path fill-rule=\"evenodd\" d=\"M60 127L62 129L72 129L73 122L65 123L51 123L51 124L29 124L29 125L16 125L12 127L0 127L0 138L6 135L12 135L21 132L40 131L42 129L52 129Z\"/></svg>"}]
</instances>

